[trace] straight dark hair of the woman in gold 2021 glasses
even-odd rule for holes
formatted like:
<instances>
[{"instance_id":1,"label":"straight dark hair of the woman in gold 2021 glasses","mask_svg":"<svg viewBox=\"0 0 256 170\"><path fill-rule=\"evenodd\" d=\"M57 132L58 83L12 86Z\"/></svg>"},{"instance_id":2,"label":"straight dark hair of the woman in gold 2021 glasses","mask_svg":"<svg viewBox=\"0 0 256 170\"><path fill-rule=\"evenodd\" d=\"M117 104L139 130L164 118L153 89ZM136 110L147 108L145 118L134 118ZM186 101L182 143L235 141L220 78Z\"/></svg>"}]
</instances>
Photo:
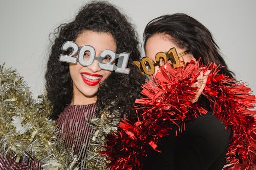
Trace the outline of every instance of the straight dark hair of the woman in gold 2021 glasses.
<instances>
[{"instance_id":1,"label":"straight dark hair of the woman in gold 2021 glasses","mask_svg":"<svg viewBox=\"0 0 256 170\"><path fill-rule=\"evenodd\" d=\"M222 74L233 77L234 74L228 69L210 31L195 18L176 13L151 20L144 29L144 48L148 38L161 33L169 35L180 48L189 50L196 60L201 58L201 63L205 65L215 62L223 66L220 70Z\"/></svg>"}]
</instances>

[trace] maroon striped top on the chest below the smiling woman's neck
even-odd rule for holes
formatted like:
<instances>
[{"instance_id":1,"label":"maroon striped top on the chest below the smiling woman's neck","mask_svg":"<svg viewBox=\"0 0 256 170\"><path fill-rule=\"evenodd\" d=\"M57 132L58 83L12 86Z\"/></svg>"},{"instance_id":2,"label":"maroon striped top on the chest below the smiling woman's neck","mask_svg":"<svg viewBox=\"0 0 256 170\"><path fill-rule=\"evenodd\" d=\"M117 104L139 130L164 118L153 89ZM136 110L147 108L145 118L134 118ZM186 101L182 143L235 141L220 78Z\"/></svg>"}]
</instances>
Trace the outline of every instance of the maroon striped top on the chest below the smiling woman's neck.
<instances>
[{"instance_id":1,"label":"maroon striped top on the chest below the smiling woman's neck","mask_svg":"<svg viewBox=\"0 0 256 170\"><path fill-rule=\"evenodd\" d=\"M60 138L66 142L66 147L72 148L85 167L86 151L93 129L90 120L94 115L96 103L89 105L67 105L55 120L60 130Z\"/></svg>"}]
</instances>

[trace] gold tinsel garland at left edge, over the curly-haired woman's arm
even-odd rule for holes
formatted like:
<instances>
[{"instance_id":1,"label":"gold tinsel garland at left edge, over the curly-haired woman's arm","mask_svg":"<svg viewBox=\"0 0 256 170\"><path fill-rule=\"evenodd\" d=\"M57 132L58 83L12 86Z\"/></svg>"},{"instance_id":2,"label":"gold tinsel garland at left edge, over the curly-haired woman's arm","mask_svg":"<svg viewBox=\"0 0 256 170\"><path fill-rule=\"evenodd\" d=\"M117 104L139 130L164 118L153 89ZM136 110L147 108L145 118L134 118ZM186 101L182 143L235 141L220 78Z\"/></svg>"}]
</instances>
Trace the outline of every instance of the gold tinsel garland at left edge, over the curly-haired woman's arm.
<instances>
[{"instance_id":1,"label":"gold tinsel garland at left edge, over the curly-haired woman's arm","mask_svg":"<svg viewBox=\"0 0 256 170\"><path fill-rule=\"evenodd\" d=\"M77 169L77 158L58 138L46 95L33 100L16 70L0 66L0 153L16 162L39 161L45 169Z\"/></svg>"}]
</instances>

